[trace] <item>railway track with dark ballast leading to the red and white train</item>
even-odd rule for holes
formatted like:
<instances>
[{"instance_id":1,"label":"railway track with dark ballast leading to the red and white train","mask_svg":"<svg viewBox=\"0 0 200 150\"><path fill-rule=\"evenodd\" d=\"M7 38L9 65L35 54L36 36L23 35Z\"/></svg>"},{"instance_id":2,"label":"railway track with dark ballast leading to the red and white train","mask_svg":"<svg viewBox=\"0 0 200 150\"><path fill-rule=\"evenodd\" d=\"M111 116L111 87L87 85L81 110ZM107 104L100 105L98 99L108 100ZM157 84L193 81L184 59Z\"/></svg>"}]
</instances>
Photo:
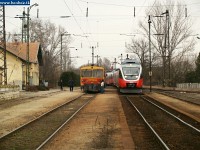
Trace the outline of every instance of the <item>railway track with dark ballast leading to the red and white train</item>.
<instances>
[{"instance_id":1,"label":"railway track with dark ballast leading to the red and white train","mask_svg":"<svg viewBox=\"0 0 200 150\"><path fill-rule=\"evenodd\" d=\"M145 96L126 96L126 99L134 107L134 110L129 107L135 119L130 130L133 130L133 139L139 149L200 147L199 123Z\"/></svg>"}]
</instances>

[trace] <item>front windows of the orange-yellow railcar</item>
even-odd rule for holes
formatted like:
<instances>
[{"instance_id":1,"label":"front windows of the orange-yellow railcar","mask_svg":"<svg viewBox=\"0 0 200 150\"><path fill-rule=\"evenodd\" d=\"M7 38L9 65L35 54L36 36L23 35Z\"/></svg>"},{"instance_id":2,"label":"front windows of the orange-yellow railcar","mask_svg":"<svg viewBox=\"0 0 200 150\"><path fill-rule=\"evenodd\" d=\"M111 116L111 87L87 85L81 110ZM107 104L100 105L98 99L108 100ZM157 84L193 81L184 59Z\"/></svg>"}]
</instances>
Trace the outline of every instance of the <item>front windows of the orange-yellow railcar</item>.
<instances>
[{"instance_id":1,"label":"front windows of the orange-yellow railcar","mask_svg":"<svg viewBox=\"0 0 200 150\"><path fill-rule=\"evenodd\" d=\"M82 77L103 77L103 70L97 69L97 70L82 70L81 71Z\"/></svg>"}]
</instances>

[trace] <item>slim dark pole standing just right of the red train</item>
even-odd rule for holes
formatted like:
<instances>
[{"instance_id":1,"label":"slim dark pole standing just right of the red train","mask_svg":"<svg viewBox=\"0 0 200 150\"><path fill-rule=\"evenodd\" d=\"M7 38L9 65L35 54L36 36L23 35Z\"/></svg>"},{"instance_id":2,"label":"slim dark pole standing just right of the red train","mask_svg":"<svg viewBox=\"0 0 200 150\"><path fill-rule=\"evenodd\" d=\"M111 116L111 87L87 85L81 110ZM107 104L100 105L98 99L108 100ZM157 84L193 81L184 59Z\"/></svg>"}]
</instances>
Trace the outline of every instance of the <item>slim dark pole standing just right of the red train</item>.
<instances>
[{"instance_id":1,"label":"slim dark pole standing just right of the red train","mask_svg":"<svg viewBox=\"0 0 200 150\"><path fill-rule=\"evenodd\" d=\"M151 92L151 76L152 76L152 71L151 71L151 17L149 15L149 84L150 84L150 92Z\"/></svg>"}]
</instances>

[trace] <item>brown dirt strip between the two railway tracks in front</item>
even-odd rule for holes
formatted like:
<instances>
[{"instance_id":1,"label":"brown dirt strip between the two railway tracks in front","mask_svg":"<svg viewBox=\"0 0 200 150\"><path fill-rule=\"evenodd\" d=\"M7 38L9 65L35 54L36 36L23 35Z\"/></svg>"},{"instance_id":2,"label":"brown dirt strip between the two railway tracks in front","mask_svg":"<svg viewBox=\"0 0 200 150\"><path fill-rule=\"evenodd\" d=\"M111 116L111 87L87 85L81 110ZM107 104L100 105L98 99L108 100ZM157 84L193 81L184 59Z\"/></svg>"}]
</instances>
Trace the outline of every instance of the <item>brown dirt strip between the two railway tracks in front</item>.
<instances>
[{"instance_id":1,"label":"brown dirt strip between the two railway tracks in front","mask_svg":"<svg viewBox=\"0 0 200 150\"><path fill-rule=\"evenodd\" d=\"M135 149L115 91L98 94L45 149Z\"/></svg>"}]
</instances>

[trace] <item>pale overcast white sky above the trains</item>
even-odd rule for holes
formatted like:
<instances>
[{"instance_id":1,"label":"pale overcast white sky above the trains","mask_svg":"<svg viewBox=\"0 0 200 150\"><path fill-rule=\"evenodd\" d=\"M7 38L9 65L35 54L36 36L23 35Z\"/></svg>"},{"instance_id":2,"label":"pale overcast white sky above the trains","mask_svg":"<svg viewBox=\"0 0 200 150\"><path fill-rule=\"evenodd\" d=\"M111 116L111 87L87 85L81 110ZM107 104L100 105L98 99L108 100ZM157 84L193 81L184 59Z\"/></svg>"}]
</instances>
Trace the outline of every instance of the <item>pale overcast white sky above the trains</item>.
<instances>
[{"instance_id":1,"label":"pale overcast white sky above the trains","mask_svg":"<svg viewBox=\"0 0 200 150\"><path fill-rule=\"evenodd\" d=\"M181 2L185 4L188 15L194 22L194 33L200 36L200 1ZM111 62L114 58L120 60L120 55L125 54L125 45L130 43L132 38L142 37L137 34L138 24L139 21L148 23L145 12L152 7L154 0L30 0L30 3L39 4L38 7L31 8L31 18L36 18L39 9L40 19L61 25L71 34L71 57L78 57L72 58L72 61L76 67L80 67L92 62L92 46L95 56L107 57ZM27 6L25 9L27 10ZM24 6L6 6L7 33L21 33L21 21L15 17L21 15L23 10ZM200 40L196 40L195 51L198 53Z\"/></svg>"}]
</instances>

